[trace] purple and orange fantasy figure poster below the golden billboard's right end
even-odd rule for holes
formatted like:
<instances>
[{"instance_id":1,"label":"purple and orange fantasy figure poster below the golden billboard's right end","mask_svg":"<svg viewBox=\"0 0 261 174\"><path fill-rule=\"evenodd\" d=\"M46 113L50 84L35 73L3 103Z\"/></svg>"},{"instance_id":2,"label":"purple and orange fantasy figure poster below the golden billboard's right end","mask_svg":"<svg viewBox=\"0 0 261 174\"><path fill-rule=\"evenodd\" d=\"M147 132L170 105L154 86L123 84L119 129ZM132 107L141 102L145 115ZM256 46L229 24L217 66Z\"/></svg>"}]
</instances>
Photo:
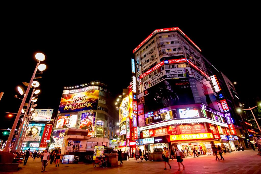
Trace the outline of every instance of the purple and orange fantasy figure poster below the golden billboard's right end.
<instances>
[{"instance_id":1,"label":"purple and orange fantasy figure poster below the golden billboard's right end","mask_svg":"<svg viewBox=\"0 0 261 174\"><path fill-rule=\"evenodd\" d=\"M94 137L94 123L95 123L94 112L87 112L81 114L80 129L88 130L88 137Z\"/></svg>"}]
</instances>

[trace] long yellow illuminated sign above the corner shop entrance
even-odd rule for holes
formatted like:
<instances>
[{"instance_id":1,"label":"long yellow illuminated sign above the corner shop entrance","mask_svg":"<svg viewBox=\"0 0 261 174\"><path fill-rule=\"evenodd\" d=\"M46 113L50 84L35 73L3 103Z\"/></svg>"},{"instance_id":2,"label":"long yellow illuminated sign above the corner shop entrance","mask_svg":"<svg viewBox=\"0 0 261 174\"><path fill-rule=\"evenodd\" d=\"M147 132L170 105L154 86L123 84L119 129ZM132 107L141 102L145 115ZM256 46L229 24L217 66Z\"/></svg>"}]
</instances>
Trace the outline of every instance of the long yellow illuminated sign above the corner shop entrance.
<instances>
[{"instance_id":1,"label":"long yellow illuminated sign above the corner shop entrance","mask_svg":"<svg viewBox=\"0 0 261 174\"><path fill-rule=\"evenodd\" d=\"M170 141L186 141L186 140L198 140L198 139L213 139L212 133L194 133L194 134L180 134L171 135Z\"/></svg>"}]
</instances>

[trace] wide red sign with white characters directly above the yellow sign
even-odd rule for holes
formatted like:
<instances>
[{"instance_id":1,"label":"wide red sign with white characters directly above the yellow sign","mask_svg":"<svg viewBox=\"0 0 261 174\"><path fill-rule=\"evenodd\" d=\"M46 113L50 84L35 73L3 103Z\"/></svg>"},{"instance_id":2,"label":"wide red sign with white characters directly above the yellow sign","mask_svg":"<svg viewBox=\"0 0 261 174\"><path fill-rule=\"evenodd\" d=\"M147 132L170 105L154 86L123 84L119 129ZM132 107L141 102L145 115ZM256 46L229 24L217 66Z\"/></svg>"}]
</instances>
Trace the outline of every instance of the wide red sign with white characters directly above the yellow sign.
<instances>
[{"instance_id":1,"label":"wide red sign with white characters directly above the yellow sign","mask_svg":"<svg viewBox=\"0 0 261 174\"><path fill-rule=\"evenodd\" d=\"M204 124L180 125L180 134L205 133Z\"/></svg>"}]
</instances>

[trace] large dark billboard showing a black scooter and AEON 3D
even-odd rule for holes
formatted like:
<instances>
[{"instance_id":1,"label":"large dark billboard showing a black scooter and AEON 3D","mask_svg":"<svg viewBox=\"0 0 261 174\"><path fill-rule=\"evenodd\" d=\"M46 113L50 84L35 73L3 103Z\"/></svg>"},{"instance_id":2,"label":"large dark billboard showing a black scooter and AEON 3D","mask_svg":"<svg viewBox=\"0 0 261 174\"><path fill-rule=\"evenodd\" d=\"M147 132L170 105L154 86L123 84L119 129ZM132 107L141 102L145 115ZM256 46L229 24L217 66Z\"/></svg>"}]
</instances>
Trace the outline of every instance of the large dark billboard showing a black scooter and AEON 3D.
<instances>
[{"instance_id":1,"label":"large dark billboard showing a black scooter and AEON 3D","mask_svg":"<svg viewBox=\"0 0 261 174\"><path fill-rule=\"evenodd\" d=\"M144 91L145 113L171 105L195 103L218 109L216 97L208 86L208 82L202 83L193 77L164 80Z\"/></svg>"}]
</instances>

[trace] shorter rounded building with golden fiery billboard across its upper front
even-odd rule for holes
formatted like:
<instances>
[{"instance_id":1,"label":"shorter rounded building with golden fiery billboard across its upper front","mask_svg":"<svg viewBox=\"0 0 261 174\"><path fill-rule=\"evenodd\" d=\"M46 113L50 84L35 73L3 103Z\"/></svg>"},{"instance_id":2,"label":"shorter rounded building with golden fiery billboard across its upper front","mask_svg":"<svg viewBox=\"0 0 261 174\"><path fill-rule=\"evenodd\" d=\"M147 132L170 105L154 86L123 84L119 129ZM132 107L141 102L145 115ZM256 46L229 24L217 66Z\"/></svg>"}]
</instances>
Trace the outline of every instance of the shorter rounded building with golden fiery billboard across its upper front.
<instances>
[{"instance_id":1,"label":"shorter rounded building with golden fiery billboard across its upper front","mask_svg":"<svg viewBox=\"0 0 261 174\"><path fill-rule=\"evenodd\" d=\"M65 87L52 133L51 148L62 147L64 132L68 128L88 130L88 137L108 138L111 145L118 122L118 111L113 101L107 85L101 81L80 87ZM79 147L75 146L73 150L79 150Z\"/></svg>"}]
</instances>

